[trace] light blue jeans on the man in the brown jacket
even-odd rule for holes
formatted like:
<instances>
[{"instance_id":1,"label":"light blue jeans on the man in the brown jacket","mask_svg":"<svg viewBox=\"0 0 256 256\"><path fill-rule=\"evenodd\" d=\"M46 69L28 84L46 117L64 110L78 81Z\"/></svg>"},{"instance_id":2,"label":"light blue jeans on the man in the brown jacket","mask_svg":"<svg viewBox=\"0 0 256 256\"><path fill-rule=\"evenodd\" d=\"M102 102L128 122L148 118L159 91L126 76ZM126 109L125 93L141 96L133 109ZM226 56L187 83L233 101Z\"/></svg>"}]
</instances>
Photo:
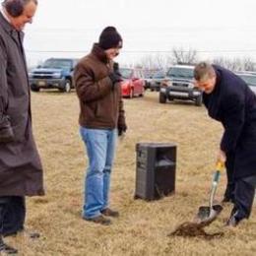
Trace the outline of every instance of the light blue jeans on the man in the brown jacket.
<instances>
[{"instance_id":1,"label":"light blue jeans on the man in the brown jacket","mask_svg":"<svg viewBox=\"0 0 256 256\"><path fill-rule=\"evenodd\" d=\"M110 173L114 159L116 129L88 129L81 127L80 133L86 144L89 166L85 178L83 217L100 215L108 207Z\"/></svg>"}]
</instances>

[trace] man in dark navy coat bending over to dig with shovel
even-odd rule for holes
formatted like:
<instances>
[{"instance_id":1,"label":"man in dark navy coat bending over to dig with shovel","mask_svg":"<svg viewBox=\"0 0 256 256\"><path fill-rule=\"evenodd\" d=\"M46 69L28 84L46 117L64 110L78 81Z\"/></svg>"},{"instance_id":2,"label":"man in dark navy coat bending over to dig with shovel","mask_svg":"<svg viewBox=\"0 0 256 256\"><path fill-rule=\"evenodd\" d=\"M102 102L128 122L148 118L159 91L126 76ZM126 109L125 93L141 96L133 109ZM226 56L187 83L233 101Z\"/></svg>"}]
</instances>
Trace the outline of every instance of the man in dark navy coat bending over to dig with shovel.
<instances>
[{"instance_id":1,"label":"man in dark navy coat bending over to dig with shovel","mask_svg":"<svg viewBox=\"0 0 256 256\"><path fill-rule=\"evenodd\" d=\"M233 183L233 209L228 225L248 219L256 185L256 96L232 72L202 62L195 67L197 86L209 115L224 126L217 160L228 168Z\"/></svg>"}]
</instances>

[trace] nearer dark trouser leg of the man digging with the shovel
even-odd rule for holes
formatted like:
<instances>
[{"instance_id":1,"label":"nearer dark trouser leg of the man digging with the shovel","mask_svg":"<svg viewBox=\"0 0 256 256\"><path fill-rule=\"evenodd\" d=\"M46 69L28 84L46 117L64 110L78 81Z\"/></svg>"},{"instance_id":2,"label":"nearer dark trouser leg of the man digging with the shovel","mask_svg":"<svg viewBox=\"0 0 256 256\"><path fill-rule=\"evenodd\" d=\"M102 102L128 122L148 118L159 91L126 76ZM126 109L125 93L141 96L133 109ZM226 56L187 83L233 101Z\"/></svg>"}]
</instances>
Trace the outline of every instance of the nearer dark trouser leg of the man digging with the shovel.
<instances>
[{"instance_id":1,"label":"nearer dark trouser leg of the man digging with the shovel","mask_svg":"<svg viewBox=\"0 0 256 256\"><path fill-rule=\"evenodd\" d=\"M234 185L234 206L231 215L238 221L248 219L255 195L256 175L238 178Z\"/></svg>"}]
</instances>

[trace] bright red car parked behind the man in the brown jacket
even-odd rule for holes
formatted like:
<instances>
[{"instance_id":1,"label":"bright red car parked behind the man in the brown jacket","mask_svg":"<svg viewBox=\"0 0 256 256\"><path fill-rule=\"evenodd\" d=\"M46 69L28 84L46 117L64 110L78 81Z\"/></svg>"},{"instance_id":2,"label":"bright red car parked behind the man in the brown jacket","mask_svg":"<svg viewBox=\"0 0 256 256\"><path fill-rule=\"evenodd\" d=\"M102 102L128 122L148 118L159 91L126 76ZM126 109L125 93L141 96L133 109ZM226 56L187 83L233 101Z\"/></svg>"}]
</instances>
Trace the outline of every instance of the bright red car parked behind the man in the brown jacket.
<instances>
[{"instance_id":1,"label":"bright red car parked behind the man in the brown jacket","mask_svg":"<svg viewBox=\"0 0 256 256\"><path fill-rule=\"evenodd\" d=\"M121 82L122 96L130 98L144 96L145 81L141 69L120 68L119 72L123 78Z\"/></svg>"}]
</instances>

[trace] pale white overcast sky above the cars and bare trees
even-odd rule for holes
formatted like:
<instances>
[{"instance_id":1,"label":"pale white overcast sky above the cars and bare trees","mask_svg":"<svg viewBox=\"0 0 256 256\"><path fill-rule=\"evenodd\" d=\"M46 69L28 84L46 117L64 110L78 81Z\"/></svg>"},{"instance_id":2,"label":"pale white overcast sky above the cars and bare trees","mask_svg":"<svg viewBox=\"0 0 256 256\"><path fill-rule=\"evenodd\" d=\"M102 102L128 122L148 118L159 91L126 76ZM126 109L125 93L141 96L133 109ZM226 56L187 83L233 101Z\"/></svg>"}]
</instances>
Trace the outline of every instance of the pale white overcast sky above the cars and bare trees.
<instances>
[{"instance_id":1,"label":"pale white overcast sky above the cars and bare trees","mask_svg":"<svg viewBox=\"0 0 256 256\"><path fill-rule=\"evenodd\" d=\"M29 63L49 56L81 57L99 33L114 26L123 37L120 62L173 47L200 58L256 60L256 0L39 0L25 46Z\"/></svg>"}]
</instances>

